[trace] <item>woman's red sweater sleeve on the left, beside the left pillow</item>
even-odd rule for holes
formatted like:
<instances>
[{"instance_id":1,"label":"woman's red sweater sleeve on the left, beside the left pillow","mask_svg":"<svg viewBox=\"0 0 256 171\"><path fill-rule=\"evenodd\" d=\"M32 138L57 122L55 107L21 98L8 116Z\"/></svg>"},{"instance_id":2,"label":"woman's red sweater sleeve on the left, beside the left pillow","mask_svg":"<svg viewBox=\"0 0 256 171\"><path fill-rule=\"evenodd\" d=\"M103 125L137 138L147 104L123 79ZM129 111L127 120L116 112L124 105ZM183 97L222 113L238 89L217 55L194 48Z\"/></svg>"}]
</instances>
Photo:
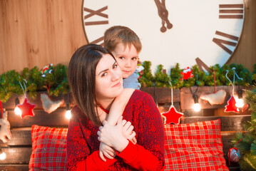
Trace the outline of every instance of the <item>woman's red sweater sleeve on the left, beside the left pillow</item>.
<instances>
[{"instance_id":1,"label":"woman's red sweater sleeve on the left, beside the left pillow","mask_svg":"<svg viewBox=\"0 0 256 171\"><path fill-rule=\"evenodd\" d=\"M67 135L67 170L108 170L116 159L106 158L107 161L104 162L98 150L91 153L74 110L72 110L72 117Z\"/></svg>"}]
</instances>

